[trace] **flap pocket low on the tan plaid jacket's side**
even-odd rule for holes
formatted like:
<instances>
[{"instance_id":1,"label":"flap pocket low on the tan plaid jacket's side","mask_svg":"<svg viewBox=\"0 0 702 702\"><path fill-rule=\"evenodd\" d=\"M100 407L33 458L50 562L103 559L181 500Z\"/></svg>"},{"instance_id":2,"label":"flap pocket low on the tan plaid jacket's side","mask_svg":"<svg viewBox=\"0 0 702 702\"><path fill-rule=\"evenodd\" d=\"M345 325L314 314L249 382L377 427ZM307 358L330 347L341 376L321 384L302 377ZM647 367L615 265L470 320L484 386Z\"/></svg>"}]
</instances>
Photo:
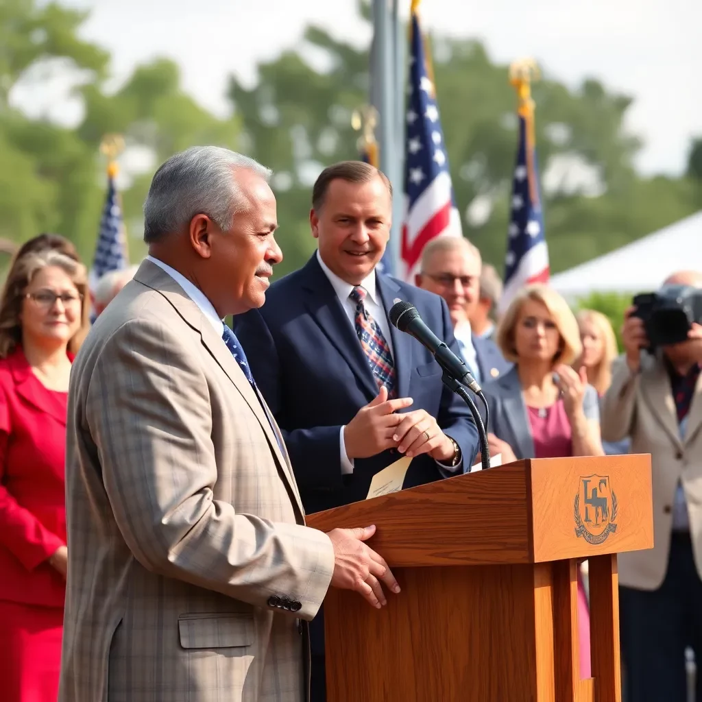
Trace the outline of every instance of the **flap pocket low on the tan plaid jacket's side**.
<instances>
[{"instance_id":1,"label":"flap pocket low on the tan plaid jacket's side","mask_svg":"<svg viewBox=\"0 0 702 702\"><path fill-rule=\"evenodd\" d=\"M223 649L253 644L253 614L181 614L180 645L184 649Z\"/></svg>"}]
</instances>

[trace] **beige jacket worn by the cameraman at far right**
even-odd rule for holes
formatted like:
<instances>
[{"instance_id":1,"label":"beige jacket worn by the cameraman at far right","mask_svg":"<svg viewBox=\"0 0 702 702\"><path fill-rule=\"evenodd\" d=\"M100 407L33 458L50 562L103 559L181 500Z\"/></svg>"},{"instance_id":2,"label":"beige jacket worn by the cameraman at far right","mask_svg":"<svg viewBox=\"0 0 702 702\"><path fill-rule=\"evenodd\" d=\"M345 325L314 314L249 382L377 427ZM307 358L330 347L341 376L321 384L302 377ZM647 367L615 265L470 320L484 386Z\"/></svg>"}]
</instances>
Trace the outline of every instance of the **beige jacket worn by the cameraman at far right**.
<instances>
[{"instance_id":1,"label":"beige jacket worn by the cameraman at far right","mask_svg":"<svg viewBox=\"0 0 702 702\"><path fill-rule=\"evenodd\" d=\"M678 482L687 498L697 571L702 577L702 375L680 437L670 379L663 364L642 355L633 375L623 357L614 363L612 383L602 402L602 439L631 437L631 453L650 453L654 508L654 548L622 553L619 583L656 590L668 568L673 501Z\"/></svg>"}]
</instances>

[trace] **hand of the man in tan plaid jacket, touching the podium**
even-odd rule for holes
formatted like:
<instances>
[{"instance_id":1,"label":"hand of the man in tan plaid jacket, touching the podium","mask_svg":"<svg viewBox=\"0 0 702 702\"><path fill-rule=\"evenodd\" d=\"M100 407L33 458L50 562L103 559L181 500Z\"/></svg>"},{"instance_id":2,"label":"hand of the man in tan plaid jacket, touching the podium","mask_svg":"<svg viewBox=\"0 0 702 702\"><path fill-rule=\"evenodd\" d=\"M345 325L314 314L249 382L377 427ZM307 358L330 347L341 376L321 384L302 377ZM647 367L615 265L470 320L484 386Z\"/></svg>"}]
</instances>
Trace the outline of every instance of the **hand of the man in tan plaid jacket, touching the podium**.
<instances>
[{"instance_id":1,"label":"hand of the man in tan plaid jacket, touching the podium","mask_svg":"<svg viewBox=\"0 0 702 702\"><path fill-rule=\"evenodd\" d=\"M388 604L380 583L392 592L399 592L395 576L385 559L363 542L376 533L376 527L365 529L334 529L327 536L334 549L334 572L331 586L342 590L355 590L373 607Z\"/></svg>"}]
</instances>

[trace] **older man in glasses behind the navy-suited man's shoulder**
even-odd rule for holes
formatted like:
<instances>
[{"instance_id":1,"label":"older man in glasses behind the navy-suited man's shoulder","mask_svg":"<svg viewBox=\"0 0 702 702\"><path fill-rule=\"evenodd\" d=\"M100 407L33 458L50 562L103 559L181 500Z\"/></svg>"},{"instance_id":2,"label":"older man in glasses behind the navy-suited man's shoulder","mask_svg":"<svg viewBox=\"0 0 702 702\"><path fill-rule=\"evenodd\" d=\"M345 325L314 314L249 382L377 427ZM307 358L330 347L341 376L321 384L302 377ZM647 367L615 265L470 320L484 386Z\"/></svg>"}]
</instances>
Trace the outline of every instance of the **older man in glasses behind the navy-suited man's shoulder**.
<instances>
[{"instance_id":1,"label":"older man in glasses behind the navy-suited man's shoulder","mask_svg":"<svg viewBox=\"0 0 702 702\"><path fill-rule=\"evenodd\" d=\"M461 357L481 385L502 376L512 364L489 338L473 333L470 316L479 303L482 258L463 237L437 237L422 252L416 284L446 300Z\"/></svg>"}]
</instances>

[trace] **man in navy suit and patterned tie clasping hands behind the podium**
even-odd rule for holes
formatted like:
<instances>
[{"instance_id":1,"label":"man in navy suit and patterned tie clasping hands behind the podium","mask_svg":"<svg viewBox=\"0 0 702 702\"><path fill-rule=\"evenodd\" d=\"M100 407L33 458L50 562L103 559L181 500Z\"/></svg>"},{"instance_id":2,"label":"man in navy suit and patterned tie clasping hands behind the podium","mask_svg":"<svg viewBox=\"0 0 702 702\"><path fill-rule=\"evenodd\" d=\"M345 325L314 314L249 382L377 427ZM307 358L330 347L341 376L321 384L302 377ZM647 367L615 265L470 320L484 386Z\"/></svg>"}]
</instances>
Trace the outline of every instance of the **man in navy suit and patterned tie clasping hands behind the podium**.
<instances>
[{"instance_id":1,"label":"man in navy suit and patterned tie clasping hands behind the podium","mask_svg":"<svg viewBox=\"0 0 702 702\"><path fill-rule=\"evenodd\" d=\"M418 341L393 327L397 298L458 352L439 296L376 271L392 188L361 161L329 166L312 192L318 250L234 319L253 377L282 429L305 510L363 500L378 471L413 460L404 487L470 470L475 424ZM256 232L252 232L256 236ZM312 623L312 700L324 700L321 618Z\"/></svg>"}]
</instances>

